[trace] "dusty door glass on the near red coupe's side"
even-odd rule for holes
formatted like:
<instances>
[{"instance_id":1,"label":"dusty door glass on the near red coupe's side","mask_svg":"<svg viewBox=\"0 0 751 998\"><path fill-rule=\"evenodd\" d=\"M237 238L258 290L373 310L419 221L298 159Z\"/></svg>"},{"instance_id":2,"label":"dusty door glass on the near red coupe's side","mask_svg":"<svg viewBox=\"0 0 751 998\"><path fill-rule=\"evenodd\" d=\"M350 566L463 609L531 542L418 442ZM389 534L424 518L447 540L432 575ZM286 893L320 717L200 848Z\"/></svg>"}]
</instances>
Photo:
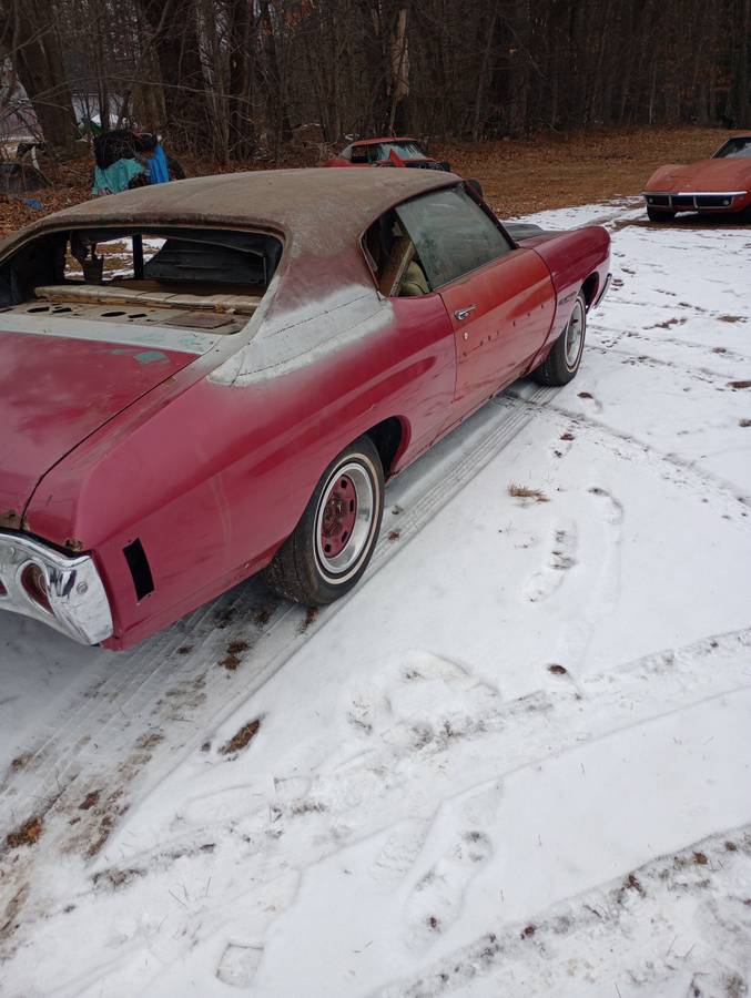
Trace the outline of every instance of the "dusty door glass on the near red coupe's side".
<instances>
[{"instance_id":1,"label":"dusty door glass on the near red coupe's side","mask_svg":"<svg viewBox=\"0 0 751 998\"><path fill-rule=\"evenodd\" d=\"M432 288L514 248L503 230L460 187L424 194L396 208Z\"/></svg>"}]
</instances>

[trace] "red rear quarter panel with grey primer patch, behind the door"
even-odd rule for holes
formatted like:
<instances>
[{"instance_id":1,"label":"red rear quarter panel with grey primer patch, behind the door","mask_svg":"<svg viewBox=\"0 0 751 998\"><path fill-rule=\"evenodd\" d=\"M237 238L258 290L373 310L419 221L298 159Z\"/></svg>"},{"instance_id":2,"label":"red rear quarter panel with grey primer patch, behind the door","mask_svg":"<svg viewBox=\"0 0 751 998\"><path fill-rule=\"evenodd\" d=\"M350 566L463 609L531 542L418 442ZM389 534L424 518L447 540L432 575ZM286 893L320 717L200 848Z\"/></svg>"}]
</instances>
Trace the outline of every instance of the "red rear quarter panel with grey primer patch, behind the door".
<instances>
[{"instance_id":1,"label":"red rear quarter panel with grey primer patch, behind the door","mask_svg":"<svg viewBox=\"0 0 751 998\"><path fill-rule=\"evenodd\" d=\"M399 303L373 294L318 319L347 332L324 330L315 349L304 349L316 337L302 323L277 334L300 339L296 354L258 339L226 369L206 374L196 363L45 476L29 530L94 552L113 603L111 646L263 568L328 462L377 422L400 419L402 464L423 449L455 387L450 323L438 298L430 307L410 322ZM140 602L123 554L135 538L154 580Z\"/></svg>"}]
</instances>

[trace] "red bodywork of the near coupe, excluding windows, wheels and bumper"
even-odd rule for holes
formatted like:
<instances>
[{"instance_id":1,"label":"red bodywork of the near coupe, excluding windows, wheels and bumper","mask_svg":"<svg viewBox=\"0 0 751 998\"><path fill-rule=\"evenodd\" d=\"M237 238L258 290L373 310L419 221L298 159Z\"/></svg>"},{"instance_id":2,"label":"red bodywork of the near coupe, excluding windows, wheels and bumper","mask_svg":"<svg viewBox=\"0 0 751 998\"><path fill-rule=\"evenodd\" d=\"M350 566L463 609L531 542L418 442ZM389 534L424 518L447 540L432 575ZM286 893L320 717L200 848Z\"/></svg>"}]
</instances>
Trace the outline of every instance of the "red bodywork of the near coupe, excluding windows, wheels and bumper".
<instances>
[{"instance_id":1,"label":"red bodywork of the near coupe, excluding windows, wheels and bumper","mask_svg":"<svg viewBox=\"0 0 751 998\"><path fill-rule=\"evenodd\" d=\"M139 364L139 347L0 338L0 512L22 513L24 529L59 548L75 539L92 552L114 620L109 646L142 640L263 568L329 461L377 424L396 418L402 428L387 475L409 465L544 358L571 289L591 275L605 281L609 237L585 228L532 240L440 292L386 301L359 235L393 204L458 179L358 176L343 194L329 171L282 172L276 186L274 174L223 177L221 217L207 179L185 181L165 185L181 189L177 201L134 191L35 226L177 224L189 211L193 223L216 225L233 202L237 227L263 224L286 241L258 328L201 357L163 350L163 363ZM290 203L293 191L301 203ZM475 301L461 329L454 312ZM123 556L135 538L154 581L140 602Z\"/></svg>"}]
</instances>

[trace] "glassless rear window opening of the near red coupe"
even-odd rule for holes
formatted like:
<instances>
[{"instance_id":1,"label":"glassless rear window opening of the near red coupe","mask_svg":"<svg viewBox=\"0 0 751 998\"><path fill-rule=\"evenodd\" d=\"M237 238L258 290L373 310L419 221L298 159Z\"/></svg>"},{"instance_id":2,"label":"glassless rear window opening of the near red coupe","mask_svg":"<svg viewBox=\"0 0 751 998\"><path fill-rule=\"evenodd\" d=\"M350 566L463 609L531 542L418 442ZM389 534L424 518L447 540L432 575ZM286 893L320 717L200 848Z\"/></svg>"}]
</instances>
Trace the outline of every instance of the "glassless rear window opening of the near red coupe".
<instances>
[{"instance_id":1,"label":"glassless rear window opening of the near red coupe","mask_svg":"<svg viewBox=\"0 0 751 998\"><path fill-rule=\"evenodd\" d=\"M266 233L82 228L42 236L0 268L0 307L40 315L241 329L282 255Z\"/></svg>"}]
</instances>

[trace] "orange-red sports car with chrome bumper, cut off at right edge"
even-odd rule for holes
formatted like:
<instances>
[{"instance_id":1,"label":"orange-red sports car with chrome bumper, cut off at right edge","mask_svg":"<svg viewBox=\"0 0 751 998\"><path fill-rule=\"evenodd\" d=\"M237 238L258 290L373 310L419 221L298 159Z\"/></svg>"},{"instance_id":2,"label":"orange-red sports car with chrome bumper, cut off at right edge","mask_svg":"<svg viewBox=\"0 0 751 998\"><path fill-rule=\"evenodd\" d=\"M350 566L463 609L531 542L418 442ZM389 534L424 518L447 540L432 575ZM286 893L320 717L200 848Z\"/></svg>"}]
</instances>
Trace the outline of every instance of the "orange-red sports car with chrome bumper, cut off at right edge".
<instances>
[{"instance_id":1,"label":"orange-red sports car with chrome bumper, cut off at right edge","mask_svg":"<svg viewBox=\"0 0 751 998\"><path fill-rule=\"evenodd\" d=\"M642 197L651 222L670 222L678 212L733 213L751 222L751 133L728 139L709 160L660 166Z\"/></svg>"}]
</instances>

